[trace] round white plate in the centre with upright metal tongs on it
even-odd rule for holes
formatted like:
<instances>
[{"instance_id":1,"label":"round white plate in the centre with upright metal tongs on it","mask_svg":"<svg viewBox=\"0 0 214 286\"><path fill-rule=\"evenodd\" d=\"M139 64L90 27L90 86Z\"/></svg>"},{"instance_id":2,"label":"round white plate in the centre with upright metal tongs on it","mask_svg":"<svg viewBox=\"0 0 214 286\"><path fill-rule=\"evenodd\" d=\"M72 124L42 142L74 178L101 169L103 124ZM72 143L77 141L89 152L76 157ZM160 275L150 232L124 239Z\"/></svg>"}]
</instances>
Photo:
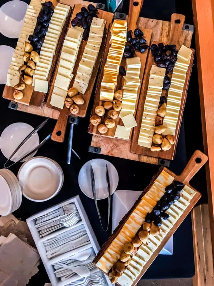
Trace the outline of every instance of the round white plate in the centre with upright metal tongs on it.
<instances>
[{"instance_id":1,"label":"round white plate in the centre with upright metal tongs on it","mask_svg":"<svg viewBox=\"0 0 214 286\"><path fill-rule=\"evenodd\" d=\"M80 189L87 197L93 199L90 169L90 166L92 165L95 176L96 198L97 200L108 198L108 190L106 184L106 164L108 166L111 195L115 192L119 178L118 172L114 165L104 159L92 159L82 166L78 175L78 183Z\"/></svg>"}]
</instances>

